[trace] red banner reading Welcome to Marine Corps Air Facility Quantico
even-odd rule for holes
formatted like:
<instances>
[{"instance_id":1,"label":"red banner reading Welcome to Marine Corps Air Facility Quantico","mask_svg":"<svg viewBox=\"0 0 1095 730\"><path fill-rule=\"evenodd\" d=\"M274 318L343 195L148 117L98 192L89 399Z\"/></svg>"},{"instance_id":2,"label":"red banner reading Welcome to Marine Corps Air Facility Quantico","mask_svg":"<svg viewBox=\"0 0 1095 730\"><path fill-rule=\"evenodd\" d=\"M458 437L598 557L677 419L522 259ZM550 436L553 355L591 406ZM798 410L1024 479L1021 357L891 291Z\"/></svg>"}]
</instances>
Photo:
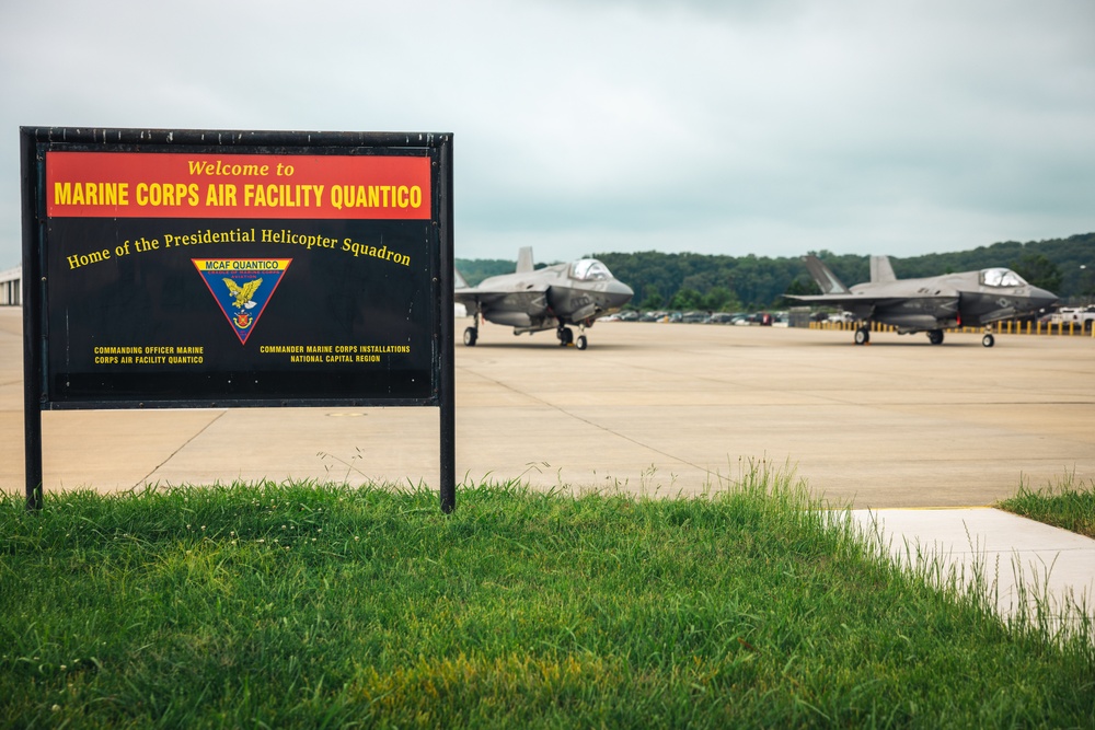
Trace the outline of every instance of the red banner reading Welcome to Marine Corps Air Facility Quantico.
<instances>
[{"instance_id":1,"label":"red banner reading Welcome to Marine Corps Air Facility Quantico","mask_svg":"<svg viewBox=\"0 0 1095 730\"><path fill-rule=\"evenodd\" d=\"M429 159L46 152L50 218L428 220Z\"/></svg>"}]
</instances>

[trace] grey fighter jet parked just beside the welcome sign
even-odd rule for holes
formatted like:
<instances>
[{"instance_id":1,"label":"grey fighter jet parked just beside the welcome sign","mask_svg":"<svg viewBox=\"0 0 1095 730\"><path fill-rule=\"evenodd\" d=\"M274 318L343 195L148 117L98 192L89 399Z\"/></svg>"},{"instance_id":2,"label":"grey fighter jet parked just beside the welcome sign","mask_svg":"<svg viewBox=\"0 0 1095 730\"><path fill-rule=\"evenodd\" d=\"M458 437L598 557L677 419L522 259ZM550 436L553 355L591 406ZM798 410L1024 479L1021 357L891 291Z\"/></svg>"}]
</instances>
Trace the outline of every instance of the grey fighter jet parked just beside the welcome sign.
<instances>
[{"instance_id":1,"label":"grey fighter jet parked just beside the welcome sign","mask_svg":"<svg viewBox=\"0 0 1095 730\"><path fill-rule=\"evenodd\" d=\"M560 345L584 350L589 340L584 334L575 340L567 325L585 332L597 317L619 312L635 293L596 258L537 269L528 247L518 253L514 274L493 276L477 287L469 287L459 271L453 278L453 299L474 317L474 325L464 329L469 347L479 339L483 318L512 327L515 335L554 329Z\"/></svg>"}]
</instances>

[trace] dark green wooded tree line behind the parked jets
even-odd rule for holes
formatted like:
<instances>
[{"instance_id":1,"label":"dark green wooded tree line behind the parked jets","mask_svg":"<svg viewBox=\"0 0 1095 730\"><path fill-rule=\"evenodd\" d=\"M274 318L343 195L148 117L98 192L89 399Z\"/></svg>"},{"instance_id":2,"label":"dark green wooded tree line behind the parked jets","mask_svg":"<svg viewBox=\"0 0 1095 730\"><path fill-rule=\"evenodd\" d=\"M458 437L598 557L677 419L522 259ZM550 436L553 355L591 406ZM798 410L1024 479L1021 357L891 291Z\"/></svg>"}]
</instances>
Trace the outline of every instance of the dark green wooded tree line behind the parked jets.
<instances>
[{"instance_id":1,"label":"dark green wooded tree line behind the parked jets","mask_svg":"<svg viewBox=\"0 0 1095 730\"><path fill-rule=\"evenodd\" d=\"M871 257L809 252L818 256L845 285L871 278ZM724 256L717 254L590 254L635 290L631 308L641 310L703 310L737 312L785 309L784 294L820 293L800 257ZM1095 301L1095 233L1068 239L1019 243L1006 241L970 251L890 257L900 279L914 279L993 266L1014 269L1030 283L1048 289L1064 303ZM457 269L469 285L498 274L511 274L507 259L458 258ZM545 266L545 265L541 265Z\"/></svg>"}]
</instances>

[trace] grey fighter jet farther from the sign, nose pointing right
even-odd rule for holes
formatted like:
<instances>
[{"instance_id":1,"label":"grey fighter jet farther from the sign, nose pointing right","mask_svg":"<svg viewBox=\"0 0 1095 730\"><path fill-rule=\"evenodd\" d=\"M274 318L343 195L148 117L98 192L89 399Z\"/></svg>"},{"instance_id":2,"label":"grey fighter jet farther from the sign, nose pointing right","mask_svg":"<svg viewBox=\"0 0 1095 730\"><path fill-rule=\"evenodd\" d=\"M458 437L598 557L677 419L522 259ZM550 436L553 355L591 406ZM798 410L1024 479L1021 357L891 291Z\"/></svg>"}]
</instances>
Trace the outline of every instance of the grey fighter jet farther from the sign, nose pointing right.
<instances>
[{"instance_id":1,"label":"grey fighter jet farther from the sign, nose pointing right","mask_svg":"<svg viewBox=\"0 0 1095 730\"><path fill-rule=\"evenodd\" d=\"M932 345L943 343L943 331L963 325L984 327L981 344L992 347L992 323L1053 305L1058 297L1031 287L1015 271L986 268L924 279L898 279L889 257L871 257L871 282L845 287L817 256L806 256L806 268L821 288L820 296L788 294L789 299L834 304L863 323L855 344L871 341L871 322L894 325L899 335L926 332Z\"/></svg>"}]
</instances>

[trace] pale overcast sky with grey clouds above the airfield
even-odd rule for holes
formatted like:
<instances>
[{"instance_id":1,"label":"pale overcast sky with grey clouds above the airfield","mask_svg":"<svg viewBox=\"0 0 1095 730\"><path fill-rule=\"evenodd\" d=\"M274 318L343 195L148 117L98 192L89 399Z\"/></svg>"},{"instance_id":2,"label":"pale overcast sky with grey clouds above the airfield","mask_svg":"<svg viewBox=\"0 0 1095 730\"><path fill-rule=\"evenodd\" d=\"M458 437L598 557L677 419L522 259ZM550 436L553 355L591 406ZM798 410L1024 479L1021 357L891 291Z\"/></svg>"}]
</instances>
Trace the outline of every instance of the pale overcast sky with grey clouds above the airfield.
<instances>
[{"instance_id":1,"label":"pale overcast sky with grey clouds above the airfield","mask_svg":"<svg viewBox=\"0 0 1095 730\"><path fill-rule=\"evenodd\" d=\"M20 126L449 131L456 254L1095 231L1092 0L0 0Z\"/></svg>"}]
</instances>

